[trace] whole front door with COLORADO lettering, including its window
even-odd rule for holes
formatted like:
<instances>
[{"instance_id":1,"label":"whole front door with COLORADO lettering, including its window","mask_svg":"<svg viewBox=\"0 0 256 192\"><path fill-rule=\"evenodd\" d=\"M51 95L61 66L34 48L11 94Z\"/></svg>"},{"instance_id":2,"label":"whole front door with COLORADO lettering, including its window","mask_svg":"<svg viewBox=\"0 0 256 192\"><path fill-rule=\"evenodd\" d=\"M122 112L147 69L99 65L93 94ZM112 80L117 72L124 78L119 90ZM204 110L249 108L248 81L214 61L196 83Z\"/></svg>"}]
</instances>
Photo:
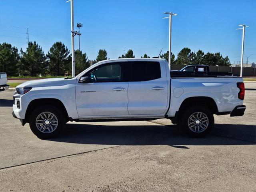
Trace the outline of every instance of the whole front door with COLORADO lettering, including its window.
<instances>
[{"instance_id":1,"label":"whole front door with COLORADO lettering, including its window","mask_svg":"<svg viewBox=\"0 0 256 192\"><path fill-rule=\"evenodd\" d=\"M76 84L79 118L128 115L128 82L123 80L125 63L108 62L84 74L89 82Z\"/></svg>"}]
</instances>

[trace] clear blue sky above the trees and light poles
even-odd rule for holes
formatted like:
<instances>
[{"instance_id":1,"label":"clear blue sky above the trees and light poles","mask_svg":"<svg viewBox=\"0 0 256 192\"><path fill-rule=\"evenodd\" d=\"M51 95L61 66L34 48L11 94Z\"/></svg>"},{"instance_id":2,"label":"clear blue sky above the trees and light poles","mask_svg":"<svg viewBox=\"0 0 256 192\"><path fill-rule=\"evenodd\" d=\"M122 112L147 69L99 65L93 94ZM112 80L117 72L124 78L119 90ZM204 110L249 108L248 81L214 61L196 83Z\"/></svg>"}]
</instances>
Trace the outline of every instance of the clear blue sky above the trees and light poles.
<instances>
[{"instance_id":1,"label":"clear blue sky above the trees and light poles","mask_svg":"<svg viewBox=\"0 0 256 192\"><path fill-rule=\"evenodd\" d=\"M132 49L136 57L158 56L168 50L168 19L163 12L175 12L172 20L172 52L188 47L220 52L231 63L240 61L242 30L247 24L246 56L256 62L255 0L74 0L74 24L80 30L80 49L89 59L106 49L109 58L118 58ZM0 0L0 43L26 49L29 40L38 42L44 53L56 41L71 48L70 3L65 0ZM75 27L76 28L76 27ZM76 29L78 30L78 29ZM78 48L78 37L75 37Z\"/></svg>"}]
</instances>

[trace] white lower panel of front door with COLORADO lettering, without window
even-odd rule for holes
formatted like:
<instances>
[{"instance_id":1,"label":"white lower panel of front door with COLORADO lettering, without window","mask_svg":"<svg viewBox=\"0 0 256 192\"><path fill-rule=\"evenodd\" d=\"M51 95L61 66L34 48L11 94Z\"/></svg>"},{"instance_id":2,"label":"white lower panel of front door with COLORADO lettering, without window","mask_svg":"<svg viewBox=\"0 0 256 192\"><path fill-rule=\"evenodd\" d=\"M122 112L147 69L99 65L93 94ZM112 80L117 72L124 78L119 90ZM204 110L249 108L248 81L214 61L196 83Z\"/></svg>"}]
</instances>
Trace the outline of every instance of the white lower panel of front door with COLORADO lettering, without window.
<instances>
[{"instance_id":1,"label":"white lower panel of front door with COLORADO lettering, without window","mask_svg":"<svg viewBox=\"0 0 256 192\"><path fill-rule=\"evenodd\" d=\"M114 88L124 88L116 91ZM128 82L76 84L76 107L79 118L86 116L128 115Z\"/></svg>"}]
</instances>

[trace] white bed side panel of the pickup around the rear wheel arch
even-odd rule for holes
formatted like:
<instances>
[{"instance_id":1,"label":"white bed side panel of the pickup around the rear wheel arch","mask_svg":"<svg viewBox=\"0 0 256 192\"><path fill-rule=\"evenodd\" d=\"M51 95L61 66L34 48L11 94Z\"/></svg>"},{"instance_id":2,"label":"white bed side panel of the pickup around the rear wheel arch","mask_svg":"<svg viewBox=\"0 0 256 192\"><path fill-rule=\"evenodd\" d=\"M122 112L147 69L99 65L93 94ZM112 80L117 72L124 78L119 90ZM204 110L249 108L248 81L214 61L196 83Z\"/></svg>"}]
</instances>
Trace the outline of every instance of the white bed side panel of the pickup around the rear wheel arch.
<instances>
[{"instance_id":1,"label":"white bed side panel of the pickup around the rear wheel arch","mask_svg":"<svg viewBox=\"0 0 256 192\"><path fill-rule=\"evenodd\" d=\"M236 106L242 105L243 100L238 98L239 88L237 82L243 82L242 78L172 78L171 104L167 115L175 116L180 105L186 98L210 97L218 108L218 112L232 111ZM176 88L182 88L183 93L177 97ZM174 91L175 90L175 91Z\"/></svg>"}]
</instances>

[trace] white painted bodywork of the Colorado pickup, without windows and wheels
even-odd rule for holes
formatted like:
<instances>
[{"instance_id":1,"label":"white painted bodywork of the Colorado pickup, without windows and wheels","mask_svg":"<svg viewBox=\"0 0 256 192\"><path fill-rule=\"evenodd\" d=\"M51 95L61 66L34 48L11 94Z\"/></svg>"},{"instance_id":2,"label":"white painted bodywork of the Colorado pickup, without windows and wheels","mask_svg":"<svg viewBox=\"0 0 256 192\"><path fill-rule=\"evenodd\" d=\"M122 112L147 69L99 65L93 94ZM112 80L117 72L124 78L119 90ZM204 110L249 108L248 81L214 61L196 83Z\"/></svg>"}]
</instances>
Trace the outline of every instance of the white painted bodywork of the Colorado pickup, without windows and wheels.
<instances>
[{"instance_id":1,"label":"white painted bodywork of the Colorado pickup, without windows and wheels","mask_svg":"<svg viewBox=\"0 0 256 192\"><path fill-rule=\"evenodd\" d=\"M145 82L78 83L94 67L130 60L160 62L161 78ZM164 118L175 116L186 98L206 96L216 102L218 112L227 112L243 104L243 100L238 99L237 82L243 82L242 78L170 79L168 62L164 59L105 60L92 65L72 79L50 78L20 84L17 87L32 89L24 95L14 95L18 98L15 98L13 110L18 118L24 119L32 100L54 98L64 104L68 116L73 119ZM152 90L153 87L164 89ZM125 90L115 91L113 88ZM17 100L20 100L20 109L17 108Z\"/></svg>"}]
</instances>

